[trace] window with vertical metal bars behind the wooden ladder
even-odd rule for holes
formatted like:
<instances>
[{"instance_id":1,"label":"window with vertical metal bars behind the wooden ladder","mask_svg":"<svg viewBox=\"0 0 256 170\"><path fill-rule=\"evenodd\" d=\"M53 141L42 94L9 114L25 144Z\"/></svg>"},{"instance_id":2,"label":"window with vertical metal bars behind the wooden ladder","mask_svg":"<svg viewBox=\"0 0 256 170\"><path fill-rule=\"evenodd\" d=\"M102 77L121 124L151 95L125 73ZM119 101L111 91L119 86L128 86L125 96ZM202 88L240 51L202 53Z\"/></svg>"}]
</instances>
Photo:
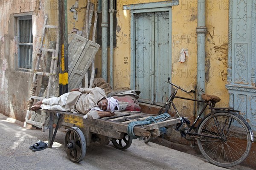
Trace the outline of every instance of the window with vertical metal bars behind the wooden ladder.
<instances>
[{"instance_id":1,"label":"window with vertical metal bars behind the wooden ladder","mask_svg":"<svg viewBox=\"0 0 256 170\"><path fill-rule=\"evenodd\" d=\"M33 34L32 16L20 16L18 19L18 68L32 69Z\"/></svg>"}]
</instances>

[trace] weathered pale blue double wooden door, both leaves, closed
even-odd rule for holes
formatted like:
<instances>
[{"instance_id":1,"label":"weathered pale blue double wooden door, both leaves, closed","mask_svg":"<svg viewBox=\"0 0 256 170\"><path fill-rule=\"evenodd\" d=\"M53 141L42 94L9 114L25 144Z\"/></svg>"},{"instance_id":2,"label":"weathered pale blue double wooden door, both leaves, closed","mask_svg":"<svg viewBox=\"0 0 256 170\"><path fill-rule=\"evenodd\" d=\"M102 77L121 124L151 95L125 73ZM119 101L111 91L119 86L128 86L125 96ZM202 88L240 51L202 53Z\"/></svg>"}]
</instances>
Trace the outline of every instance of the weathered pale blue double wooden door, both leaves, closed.
<instances>
[{"instance_id":1,"label":"weathered pale blue double wooden door, both leaves, closed","mask_svg":"<svg viewBox=\"0 0 256 170\"><path fill-rule=\"evenodd\" d=\"M161 104L168 97L171 77L169 11L135 14L135 88L140 102Z\"/></svg>"}]
</instances>

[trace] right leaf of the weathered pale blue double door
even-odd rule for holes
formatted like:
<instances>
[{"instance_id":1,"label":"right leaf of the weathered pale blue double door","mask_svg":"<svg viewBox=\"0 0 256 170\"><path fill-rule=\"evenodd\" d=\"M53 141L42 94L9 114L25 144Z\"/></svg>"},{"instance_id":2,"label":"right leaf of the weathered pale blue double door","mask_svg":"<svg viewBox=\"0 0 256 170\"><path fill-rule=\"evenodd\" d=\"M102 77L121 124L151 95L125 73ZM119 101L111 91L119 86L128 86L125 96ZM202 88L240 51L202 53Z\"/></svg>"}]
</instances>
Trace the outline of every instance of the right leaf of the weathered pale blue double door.
<instances>
[{"instance_id":1,"label":"right leaf of the weathered pale blue double door","mask_svg":"<svg viewBox=\"0 0 256 170\"><path fill-rule=\"evenodd\" d=\"M155 50L154 50L154 102L165 103L169 97L172 56L169 56L169 12L155 13ZM171 49L170 49L171 50Z\"/></svg>"}]
</instances>

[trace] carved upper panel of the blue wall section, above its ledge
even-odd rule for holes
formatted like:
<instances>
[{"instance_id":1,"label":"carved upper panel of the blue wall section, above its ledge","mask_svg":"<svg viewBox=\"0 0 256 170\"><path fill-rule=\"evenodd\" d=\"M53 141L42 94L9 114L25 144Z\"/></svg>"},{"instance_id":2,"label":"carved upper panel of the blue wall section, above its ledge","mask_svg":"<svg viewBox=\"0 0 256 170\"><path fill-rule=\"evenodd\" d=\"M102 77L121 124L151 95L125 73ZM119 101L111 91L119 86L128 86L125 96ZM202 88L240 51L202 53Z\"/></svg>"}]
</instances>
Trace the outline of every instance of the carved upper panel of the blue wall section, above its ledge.
<instances>
[{"instance_id":1,"label":"carved upper panel of the blue wall section, above its ledge","mask_svg":"<svg viewBox=\"0 0 256 170\"><path fill-rule=\"evenodd\" d=\"M256 86L256 0L230 0L227 84Z\"/></svg>"}]
</instances>

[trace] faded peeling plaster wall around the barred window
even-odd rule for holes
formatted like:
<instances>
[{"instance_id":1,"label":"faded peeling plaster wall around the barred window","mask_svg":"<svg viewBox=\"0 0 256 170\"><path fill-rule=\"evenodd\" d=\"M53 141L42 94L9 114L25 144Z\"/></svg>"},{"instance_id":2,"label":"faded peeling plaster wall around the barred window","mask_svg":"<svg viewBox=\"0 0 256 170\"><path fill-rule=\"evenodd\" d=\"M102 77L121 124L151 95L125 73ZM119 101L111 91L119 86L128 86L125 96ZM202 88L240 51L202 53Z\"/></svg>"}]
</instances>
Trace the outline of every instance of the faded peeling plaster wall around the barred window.
<instances>
[{"instance_id":1,"label":"faded peeling plaster wall around the barred window","mask_svg":"<svg viewBox=\"0 0 256 170\"><path fill-rule=\"evenodd\" d=\"M15 31L17 19L14 14L33 12L33 67L35 67L35 56L41 40L44 14L47 13L51 19L54 18L50 15L56 13L58 9L56 6L57 4L52 0L6 0L0 2L0 113L22 122L26 115L26 102L33 73L32 70L24 72L17 69L17 34ZM50 39L53 35L47 35L47 37ZM47 39L45 41L47 42Z\"/></svg>"}]
</instances>

